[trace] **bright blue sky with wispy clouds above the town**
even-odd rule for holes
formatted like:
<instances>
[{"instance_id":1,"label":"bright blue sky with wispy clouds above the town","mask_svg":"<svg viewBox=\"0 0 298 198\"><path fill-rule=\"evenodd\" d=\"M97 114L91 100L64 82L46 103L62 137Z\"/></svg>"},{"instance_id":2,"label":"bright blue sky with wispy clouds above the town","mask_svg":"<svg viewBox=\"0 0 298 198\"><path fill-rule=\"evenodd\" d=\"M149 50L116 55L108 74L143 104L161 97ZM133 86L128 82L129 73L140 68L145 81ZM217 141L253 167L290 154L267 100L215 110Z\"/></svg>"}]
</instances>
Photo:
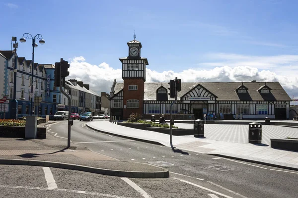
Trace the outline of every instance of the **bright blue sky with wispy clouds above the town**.
<instances>
[{"instance_id":1,"label":"bright blue sky with wispy clouds above the town","mask_svg":"<svg viewBox=\"0 0 298 198\"><path fill-rule=\"evenodd\" d=\"M11 36L41 34L46 43L35 50L35 62L83 57L74 61L80 68L82 63L104 64L117 73L118 58L127 56L126 43L136 31L148 72L163 75L151 81L179 74L184 82L215 81L209 76L188 79L183 73L219 67L228 76L218 76L219 81L279 81L292 98L298 97L297 5L295 0L0 0L0 47L9 50ZM19 43L17 53L31 59L30 41ZM239 74L245 69L247 75ZM71 70L72 77L93 83L87 75ZM110 85L100 86L109 91Z\"/></svg>"}]
</instances>

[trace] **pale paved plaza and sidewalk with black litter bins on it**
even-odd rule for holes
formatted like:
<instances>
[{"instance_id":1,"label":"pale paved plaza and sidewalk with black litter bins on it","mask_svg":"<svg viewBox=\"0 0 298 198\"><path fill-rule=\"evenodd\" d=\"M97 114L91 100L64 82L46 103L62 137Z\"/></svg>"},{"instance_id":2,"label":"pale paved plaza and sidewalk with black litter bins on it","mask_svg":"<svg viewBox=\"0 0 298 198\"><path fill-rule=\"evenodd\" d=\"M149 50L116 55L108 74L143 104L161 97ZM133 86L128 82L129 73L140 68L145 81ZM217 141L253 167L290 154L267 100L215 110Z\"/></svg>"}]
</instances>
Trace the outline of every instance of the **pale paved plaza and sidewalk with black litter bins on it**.
<instances>
[{"instance_id":1,"label":"pale paved plaza and sidewalk with black litter bins on it","mask_svg":"<svg viewBox=\"0 0 298 198\"><path fill-rule=\"evenodd\" d=\"M298 125L298 121L285 122L297 122ZM170 147L167 134L124 127L109 121L88 122L86 125L95 131ZM193 129L193 124L175 123L175 126ZM204 138L195 138L193 135L172 136L172 144L181 150L298 170L298 152L270 147L270 139L286 139L287 137L298 138L298 129L279 125L262 125L262 144L250 144L248 143L247 124L205 124Z\"/></svg>"}]
</instances>

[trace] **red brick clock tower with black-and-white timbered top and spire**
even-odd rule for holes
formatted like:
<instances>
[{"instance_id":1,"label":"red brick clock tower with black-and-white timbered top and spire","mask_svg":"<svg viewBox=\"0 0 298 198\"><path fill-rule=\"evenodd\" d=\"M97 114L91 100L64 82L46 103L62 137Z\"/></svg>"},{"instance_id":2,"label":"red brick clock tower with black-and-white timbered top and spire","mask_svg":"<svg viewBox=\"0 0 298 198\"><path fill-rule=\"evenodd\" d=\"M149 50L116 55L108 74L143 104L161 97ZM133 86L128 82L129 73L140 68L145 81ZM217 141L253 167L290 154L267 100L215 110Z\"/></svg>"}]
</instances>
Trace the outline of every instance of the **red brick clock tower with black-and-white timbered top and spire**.
<instances>
[{"instance_id":1,"label":"red brick clock tower with black-and-white timbered top and spire","mask_svg":"<svg viewBox=\"0 0 298 198\"><path fill-rule=\"evenodd\" d=\"M123 83L123 118L130 114L143 114L144 84L146 81L147 58L141 57L141 42L134 40L127 43L128 56L119 58L122 62Z\"/></svg>"}]
</instances>

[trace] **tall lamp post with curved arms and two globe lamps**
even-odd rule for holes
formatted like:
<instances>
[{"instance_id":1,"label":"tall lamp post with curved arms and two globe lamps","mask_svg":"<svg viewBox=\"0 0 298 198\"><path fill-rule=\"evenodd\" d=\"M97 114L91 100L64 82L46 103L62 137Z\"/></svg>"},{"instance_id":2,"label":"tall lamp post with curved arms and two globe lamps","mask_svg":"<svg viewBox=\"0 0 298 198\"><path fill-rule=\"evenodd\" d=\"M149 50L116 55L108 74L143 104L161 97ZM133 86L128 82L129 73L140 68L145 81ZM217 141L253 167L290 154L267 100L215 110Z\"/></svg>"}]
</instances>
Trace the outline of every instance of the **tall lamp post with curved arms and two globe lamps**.
<instances>
[{"instance_id":1,"label":"tall lamp post with curved arms and two globe lamps","mask_svg":"<svg viewBox=\"0 0 298 198\"><path fill-rule=\"evenodd\" d=\"M25 36L25 37L24 37ZM21 43L25 43L26 39L32 40L32 74L31 74L31 93L30 93L30 99L31 99L31 106L30 106L30 115L32 115L32 107L33 107L33 72L34 72L34 48L37 47L37 44L35 43L36 39L39 40L40 44L45 44L45 40L42 39L41 34L37 34L34 37L29 34L25 33L23 34L22 38L20 38Z\"/></svg>"}]
</instances>

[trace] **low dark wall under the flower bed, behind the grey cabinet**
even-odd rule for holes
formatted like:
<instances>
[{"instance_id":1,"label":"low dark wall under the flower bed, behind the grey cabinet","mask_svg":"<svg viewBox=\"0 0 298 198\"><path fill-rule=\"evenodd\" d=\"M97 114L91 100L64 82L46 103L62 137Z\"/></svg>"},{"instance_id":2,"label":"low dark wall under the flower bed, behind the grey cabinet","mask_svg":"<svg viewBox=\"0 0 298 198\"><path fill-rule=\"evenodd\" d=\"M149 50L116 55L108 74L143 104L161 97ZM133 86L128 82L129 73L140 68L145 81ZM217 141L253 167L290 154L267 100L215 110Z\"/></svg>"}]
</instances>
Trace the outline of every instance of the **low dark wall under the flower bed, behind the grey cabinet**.
<instances>
[{"instance_id":1,"label":"low dark wall under the flower bed, behind the grey cabinet","mask_svg":"<svg viewBox=\"0 0 298 198\"><path fill-rule=\"evenodd\" d=\"M37 139L46 139L47 127L37 127ZM0 137L25 138L25 127L0 126Z\"/></svg>"}]
</instances>

